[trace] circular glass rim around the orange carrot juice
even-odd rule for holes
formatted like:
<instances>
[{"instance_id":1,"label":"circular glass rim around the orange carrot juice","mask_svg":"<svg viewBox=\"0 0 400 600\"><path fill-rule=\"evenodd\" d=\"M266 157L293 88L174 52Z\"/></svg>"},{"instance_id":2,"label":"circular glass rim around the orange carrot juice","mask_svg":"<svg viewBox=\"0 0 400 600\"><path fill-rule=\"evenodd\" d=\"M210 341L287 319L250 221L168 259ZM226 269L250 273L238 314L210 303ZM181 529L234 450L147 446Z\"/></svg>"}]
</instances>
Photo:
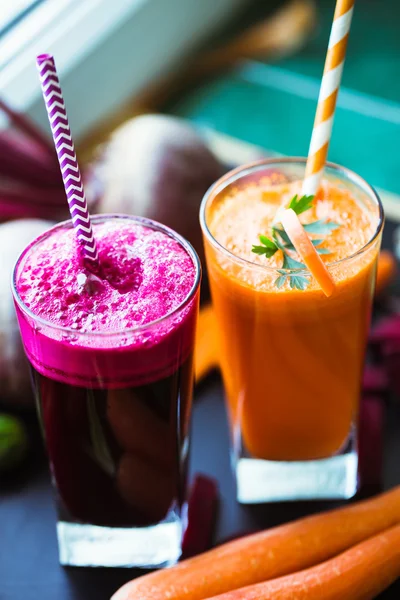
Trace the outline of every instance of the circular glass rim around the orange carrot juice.
<instances>
[{"instance_id":1,"label":"circular glass rim around the orange carrot juice","mask_svg":"<svg viewBox=\"0 0 400 600\"><path fill-rule=\"evenodd\" d=\"M241 177L243 177L244 175L248 175L251 172L261 170L264 167L268 167L268 166L271 166L274 164L282 164L282 163L283 164L298 164L298 165L305 166L307 163L307 158L297 157L297 156L294 156L294 157L274 156L272 158L262 158L261 160L253 161L251 163L246 163L244 165L240 165L239 167L235 167L234 169L231 169L230 171L228 171L228 173L225 173L225 175L220 177L215 183L213 183L208 188L208 190L206 191L206 193L203 196L203 199L202 199L201 205L200 205L200 226L201 226L204 236L214 246L214 248L216 248L218 251L220 251L222 254L224 254L230 260L233 260L234 262L242 264L243 266L246 266L246 267L251 267L252 269L260 269L261 271L268 272L268 273L271 271L276 273L278 268L270 267L268 265L260 265L259 263L252 262L251 260L248 260L246 258L236 256L235 254L233 254L233 252L231 252L230 250L225 248L225 246L220 244L220 242L218 242L218 240L215 239L215 237L211 233L211 231L208 227L208 224L206 222L206 207L207 207L209 200L216 197L230 183L234 183L235 181L241 179ZM362 189L370 198L372 197L375 200L375 202L378 206L378 211L379 211L377 227L376 227L375 231L373 232L373 234L371 235L371 238L368 240L368 242L366 242L361 248L359 248L356 252L353 252L349 256L345 256L343 258L340 258L339 260L325 263L326 267L334 268L334 267L337 267L338 265L345 263L348 260L352 260L353 258L363 254L366 250L368 250L368 248L375 242L375 240L379 236L380 232L382 231L385 219L384 219L384 211L383 211L382 201L381 201L377 191L375 190L375 188L372 187L372 185L367 183L367 181L365 181L365 179L363 179L363 177L361 177L361 175L357 175L357 173L355 173L354 171L351 171L347 167L342 167L341 165L338 165L337 163L333 163L333 162L326 162L325 167L328 167L329 169L336 171L336 173L338 173L338 174L344 175L348 181L350 181L351 183L355 184L357 187ZM304 269L304 268L297 268L297 269L279 268L279 271L285 272L285 274L288 274L288 275L293 274L293 273L299 273L299 274L310 273L310 271L307 268L306 269Z\"/></svg>"}]
</instances>

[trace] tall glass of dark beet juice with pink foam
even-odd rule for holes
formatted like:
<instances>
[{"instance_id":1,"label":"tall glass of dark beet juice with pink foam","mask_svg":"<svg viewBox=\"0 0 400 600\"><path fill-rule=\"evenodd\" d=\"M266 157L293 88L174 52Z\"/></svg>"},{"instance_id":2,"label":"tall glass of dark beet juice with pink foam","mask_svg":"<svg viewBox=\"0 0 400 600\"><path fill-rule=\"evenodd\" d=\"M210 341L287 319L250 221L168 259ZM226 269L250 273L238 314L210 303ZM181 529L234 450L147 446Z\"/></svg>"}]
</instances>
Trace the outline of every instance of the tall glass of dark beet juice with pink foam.
<instances>
[{"instance_id":1,"label":"tall glass of dark beet juice with pink foam","mask_svg":"<svg viewBox=\"0 0 400 600\"><path fill-rule=\"evenodd\" d=\"M96 274L67 221L30 244L13 275L60 562L170 565L186 519L200 264L188 242L153 221L92 221Z\"/></svg>"}]
</instances>

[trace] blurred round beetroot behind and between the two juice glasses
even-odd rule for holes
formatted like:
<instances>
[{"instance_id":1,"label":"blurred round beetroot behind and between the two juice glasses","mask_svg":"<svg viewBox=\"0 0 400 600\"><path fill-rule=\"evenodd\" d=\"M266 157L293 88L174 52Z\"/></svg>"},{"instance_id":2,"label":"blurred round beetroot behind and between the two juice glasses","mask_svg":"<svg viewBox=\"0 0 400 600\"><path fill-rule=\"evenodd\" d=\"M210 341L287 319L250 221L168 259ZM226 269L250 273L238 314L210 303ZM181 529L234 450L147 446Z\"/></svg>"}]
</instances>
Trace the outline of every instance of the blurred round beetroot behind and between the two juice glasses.
<instances>
[{"instance_id":1,"label":"blurred round beetroot behind and between the two juice glasses","mask_svg":"<svg viewBox=\"0 0 400 600\"><path fill-rule=\"evenodd\" d=\"M202 254L200 202L223 167L185 121L136 117L113 135L98 171L98 212L148 217L187 238Z\"/></svg>"}]
</instances>

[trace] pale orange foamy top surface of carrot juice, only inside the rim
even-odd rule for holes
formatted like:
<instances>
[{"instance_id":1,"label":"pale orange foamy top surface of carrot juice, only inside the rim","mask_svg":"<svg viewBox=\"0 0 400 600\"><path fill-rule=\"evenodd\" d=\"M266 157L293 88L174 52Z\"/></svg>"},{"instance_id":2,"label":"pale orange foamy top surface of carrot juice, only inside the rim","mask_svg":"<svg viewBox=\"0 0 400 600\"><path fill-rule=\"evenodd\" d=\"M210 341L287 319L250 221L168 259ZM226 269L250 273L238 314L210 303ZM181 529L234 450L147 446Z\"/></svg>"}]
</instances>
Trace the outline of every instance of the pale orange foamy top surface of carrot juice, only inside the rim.
<instances>
[{"instance_id":1,"label":"pale orange foamy top surface of carrot juice, only inside the rim","mask_svg":"<svg viewBox=\"0 0 400 600\"><path fill-rule=\"evenodd\" d=\"M260 234L271 236L271 227L295 194L300 197L300 181L271 185L268 178L223 196L212 208L209 217L210 231L227 250L250 262L281 267L282 256L277 252L266 259L252 252L253 244L259 244ZM345 188L324 181L313 207L300 215L303 223L320 219L333 221L339 227L323 237L321 248L329 253L321 255L330 263L360 250L371 239L378 224L378 215L372 216L363 209ZM279 218L277 219L279 221Z\"/></svg>"}]
</instances>

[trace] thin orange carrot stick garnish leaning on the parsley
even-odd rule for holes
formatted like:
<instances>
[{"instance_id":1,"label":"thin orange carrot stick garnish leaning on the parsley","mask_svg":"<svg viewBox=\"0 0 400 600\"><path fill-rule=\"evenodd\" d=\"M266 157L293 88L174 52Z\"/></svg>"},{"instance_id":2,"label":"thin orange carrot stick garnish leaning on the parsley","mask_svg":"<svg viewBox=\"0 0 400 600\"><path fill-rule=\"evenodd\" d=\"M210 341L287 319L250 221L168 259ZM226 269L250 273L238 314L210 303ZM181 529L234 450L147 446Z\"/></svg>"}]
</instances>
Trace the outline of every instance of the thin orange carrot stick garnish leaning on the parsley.
<instances>
[{"instance_id":1,"label":"thin orange carrot stick garnish leaning on the parsley","mask_svg":"<svg viewBox=\"0 0 400 600\"><path fill-rule=\"evenodd\" d=\"M288 208L282 213L281 223L301 260L315 277L325 296L331 296L335 289L335 282L293 209Z\"/></svg>"}]
</instances>

